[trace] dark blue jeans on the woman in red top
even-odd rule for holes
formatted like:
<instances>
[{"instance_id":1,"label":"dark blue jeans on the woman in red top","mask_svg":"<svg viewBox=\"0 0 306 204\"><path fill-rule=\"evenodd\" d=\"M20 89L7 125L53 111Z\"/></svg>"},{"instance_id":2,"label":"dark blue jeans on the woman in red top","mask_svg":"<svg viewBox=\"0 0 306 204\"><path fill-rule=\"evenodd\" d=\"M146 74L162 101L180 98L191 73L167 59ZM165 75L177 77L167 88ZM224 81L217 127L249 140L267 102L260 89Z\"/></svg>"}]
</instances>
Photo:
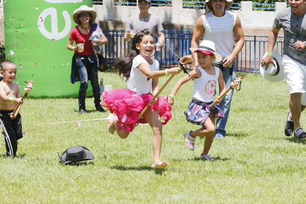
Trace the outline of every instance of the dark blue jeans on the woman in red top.
<instances>
[{"instance_id":1,"label":"dark blue jeans on the woman in red top","mask_svg":"<svg viewBox=\"0 0 306 204\"><path fill-rule=\"evenodd\" d=\"M88 80L91 82L96 108L100 106L100 86L98 82L98 61L95 55L76 55L76 64L80 74L79 109L86 109L85 98Z\"/></svg>"}]
</instances>

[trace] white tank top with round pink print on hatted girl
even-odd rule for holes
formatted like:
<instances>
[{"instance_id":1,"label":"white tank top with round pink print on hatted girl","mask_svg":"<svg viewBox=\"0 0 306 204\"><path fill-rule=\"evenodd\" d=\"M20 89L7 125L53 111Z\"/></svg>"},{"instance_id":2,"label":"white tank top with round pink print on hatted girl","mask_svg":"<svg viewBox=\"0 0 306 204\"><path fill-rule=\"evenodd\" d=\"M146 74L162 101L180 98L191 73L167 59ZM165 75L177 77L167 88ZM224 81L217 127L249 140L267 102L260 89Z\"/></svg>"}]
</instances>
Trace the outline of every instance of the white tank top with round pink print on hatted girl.
<instances>
[{"instance_id":1,"label":"white tank top with round pink print on hatted girl","mask_svg":"<svg viewBox=\"0 0 306 204\"><path fill-rule=\"evenodd\" d=\"M202 76L194 79L193 97L205 103L211 102L214 100L220 69L215 66L215 75L207 74L201 66L198 67L198 70L200 70Z\"/></svg>"}]
</instances>

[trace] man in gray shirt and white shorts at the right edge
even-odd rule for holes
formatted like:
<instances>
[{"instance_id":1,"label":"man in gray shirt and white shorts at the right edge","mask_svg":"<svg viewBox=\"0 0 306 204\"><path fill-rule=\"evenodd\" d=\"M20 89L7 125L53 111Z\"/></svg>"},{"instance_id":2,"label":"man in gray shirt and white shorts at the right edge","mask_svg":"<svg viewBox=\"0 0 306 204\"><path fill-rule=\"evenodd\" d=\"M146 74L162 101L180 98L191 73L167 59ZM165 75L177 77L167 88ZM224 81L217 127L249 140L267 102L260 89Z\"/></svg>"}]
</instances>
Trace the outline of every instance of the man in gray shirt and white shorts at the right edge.
<instances>
[{"instance_id":1,"label":"man in gray shirt and white shorts at the right edge","mask_svg":"<svg viewBox=\"0 0 306 204\"><path fill-rule=\"evenodd\" d=\"M278 32L284 30L284 56L282 64L286 82L290 86L290 112L285 134L298 139L306 138L301 128L300 115L306 107L306 0L289 0L290 7L281 10L274 19L268 38L268 53L262 66L273 63L272 51Z\"/></svg>"}]
</instances>

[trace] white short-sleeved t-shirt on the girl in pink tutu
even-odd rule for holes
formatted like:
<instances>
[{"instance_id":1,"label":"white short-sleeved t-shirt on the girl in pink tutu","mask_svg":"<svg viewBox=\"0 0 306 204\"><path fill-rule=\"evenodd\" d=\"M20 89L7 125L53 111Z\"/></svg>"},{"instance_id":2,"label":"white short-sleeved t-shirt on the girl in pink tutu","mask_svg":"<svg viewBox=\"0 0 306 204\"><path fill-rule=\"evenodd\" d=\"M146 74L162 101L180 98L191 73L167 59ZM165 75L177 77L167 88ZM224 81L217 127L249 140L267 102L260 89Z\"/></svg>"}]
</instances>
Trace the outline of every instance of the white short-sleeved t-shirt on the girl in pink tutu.
<instances>
[{"instance_id":1,"label":"white short-sleeved t-shirt on the girl in pink tutu","mask_svg":"<svg viewBox=\"0 0 306 204\"><path fill-rule=\"evenodd\" d=\"M133 64L131 68L130 77L127 81L127 88L136 92L138 94L148 94L151 92L152 88L152 79L148 80L148 77L142 73L138 68L136 68L141 63L146 63L152 71L159 70L159 62L156 59L152 58L153 63L149 64L147 60L141 56L137 55L133 59Z\"/></svg>"}]
</instances>

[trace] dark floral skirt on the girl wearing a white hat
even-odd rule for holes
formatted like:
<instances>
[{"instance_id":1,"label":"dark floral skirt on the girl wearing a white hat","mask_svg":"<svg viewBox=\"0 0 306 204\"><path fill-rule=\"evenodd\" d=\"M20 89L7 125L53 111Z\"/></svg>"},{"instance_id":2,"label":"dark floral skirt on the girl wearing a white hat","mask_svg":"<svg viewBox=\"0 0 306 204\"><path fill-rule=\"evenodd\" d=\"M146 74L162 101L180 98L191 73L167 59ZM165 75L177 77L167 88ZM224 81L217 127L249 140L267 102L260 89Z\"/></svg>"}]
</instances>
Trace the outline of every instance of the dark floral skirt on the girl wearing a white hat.
<instances>
[{"instance_id":1,"label":"dark floral skirt on the girl wearing a white hat","mask_svg":"<svg viewBox=\"0 0 306 204\"><path fill-rule=\"evenodd\" d=\"M224 118L223 108L216 104L212 108L209 108L209 103L192 99L189 103L188 110L184 111L186 120L192 124L203 125L206 119L209 117L210 111L214 111L215 118Z\"/></svg>"}]
</instances>

